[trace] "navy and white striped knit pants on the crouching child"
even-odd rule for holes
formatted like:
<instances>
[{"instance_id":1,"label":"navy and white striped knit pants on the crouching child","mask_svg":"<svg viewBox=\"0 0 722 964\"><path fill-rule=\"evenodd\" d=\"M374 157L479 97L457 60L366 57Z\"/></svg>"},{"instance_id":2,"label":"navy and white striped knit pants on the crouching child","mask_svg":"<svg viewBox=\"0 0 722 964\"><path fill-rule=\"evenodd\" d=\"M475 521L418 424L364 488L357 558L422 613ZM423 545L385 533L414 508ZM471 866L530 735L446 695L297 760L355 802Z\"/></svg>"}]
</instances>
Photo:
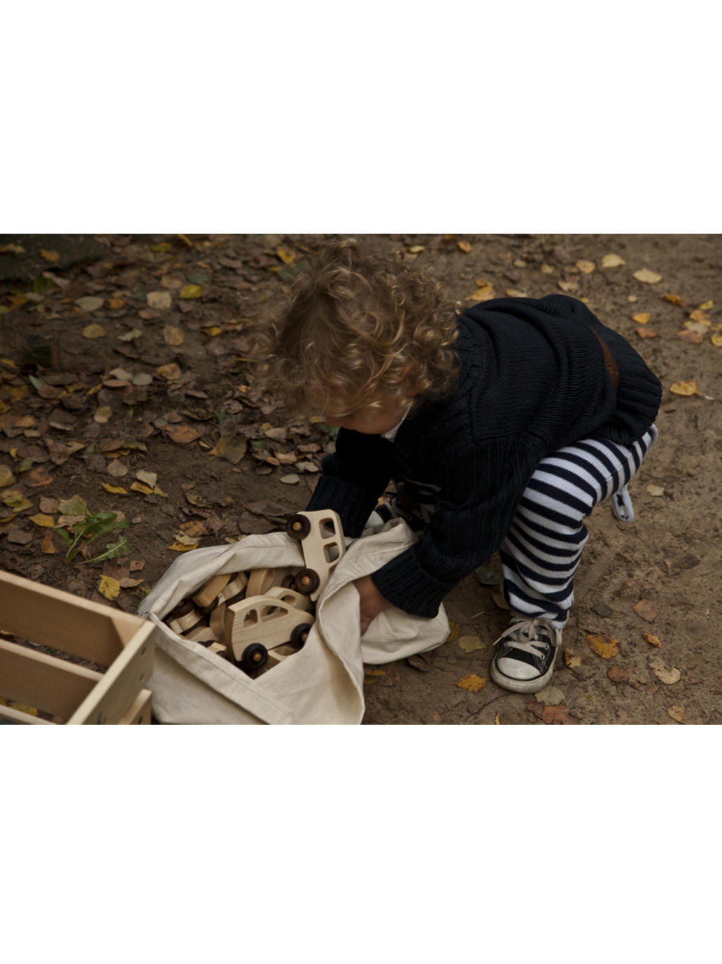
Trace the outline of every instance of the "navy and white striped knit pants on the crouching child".
<instances>
[{"instance_id":1,"label":"navy and white striped knit pants on the crouching child","mask_svg":"<svg viewBox=\"0 0 722 964\"><path fill-rule=\"evenodd\" d=\"M627 483L656 442L655 425L629 447L585 439L544 459L521 495L499 553L503 593L515 613L563 629L589 533L584 519L603 498L623 522L633 511Z\"/></svg>"}]
</instances>

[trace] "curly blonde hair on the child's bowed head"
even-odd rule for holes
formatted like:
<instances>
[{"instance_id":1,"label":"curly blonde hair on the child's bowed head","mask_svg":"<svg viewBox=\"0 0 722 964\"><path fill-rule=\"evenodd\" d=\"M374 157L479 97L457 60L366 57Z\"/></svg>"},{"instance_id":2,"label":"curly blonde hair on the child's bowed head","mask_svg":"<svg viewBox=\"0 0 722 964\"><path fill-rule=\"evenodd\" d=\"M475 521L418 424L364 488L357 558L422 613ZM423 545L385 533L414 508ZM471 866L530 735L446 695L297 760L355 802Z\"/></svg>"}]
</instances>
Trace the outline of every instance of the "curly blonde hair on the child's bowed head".
<instances>
[{"instance_id":1,"label":"curly blonde hair on the child's bowed head","mask_svg":"<svg viewBox=\"0 0 722 964\"><path fill-rule=\"evenodd\" d=\"M357 241L322 250L271 304L257 335L257 380L287 411L403 409L451 388L457 303L425 270Z\"/></svg>"}]
</instances>

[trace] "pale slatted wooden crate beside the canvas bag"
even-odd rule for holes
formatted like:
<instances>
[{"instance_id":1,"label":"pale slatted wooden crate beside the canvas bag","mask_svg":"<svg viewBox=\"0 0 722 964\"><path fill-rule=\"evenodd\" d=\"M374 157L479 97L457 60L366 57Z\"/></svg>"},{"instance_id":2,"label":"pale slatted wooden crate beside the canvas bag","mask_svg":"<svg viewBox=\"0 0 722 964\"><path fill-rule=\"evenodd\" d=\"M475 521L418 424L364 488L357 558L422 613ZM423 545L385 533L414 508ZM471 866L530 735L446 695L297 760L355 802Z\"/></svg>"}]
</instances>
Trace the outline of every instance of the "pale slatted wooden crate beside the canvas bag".
<instances>
[{"instance_id":1,"label":"pale slatted wooden crate beside the canvas bag","mask_svg":"<svg viewBox=\"0 0 722 964\"><path fill-rule=\"evenodd\" d=\"M149 723L155 627L138 616L0 572L0 629L99 666L0 638L0 696L74 723ZM0 705L0 719L48 720Z\"/></svg>"}]
</instances>

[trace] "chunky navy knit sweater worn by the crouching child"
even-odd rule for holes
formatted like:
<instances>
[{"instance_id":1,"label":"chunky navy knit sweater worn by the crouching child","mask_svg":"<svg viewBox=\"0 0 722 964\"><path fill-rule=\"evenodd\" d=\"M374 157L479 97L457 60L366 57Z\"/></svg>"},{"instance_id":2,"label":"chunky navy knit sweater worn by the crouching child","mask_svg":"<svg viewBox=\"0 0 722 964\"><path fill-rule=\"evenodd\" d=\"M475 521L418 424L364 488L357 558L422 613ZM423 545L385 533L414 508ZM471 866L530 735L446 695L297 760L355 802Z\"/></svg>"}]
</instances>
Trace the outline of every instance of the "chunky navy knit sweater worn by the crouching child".
<instances>
[{"instance_id":1,"label":"chunky navy knit sweater worn by the crouching child","mask_svg":"<svg viewBox=\"0 0 722 964\"><path fill-rule=\"evenodd\" d=\"M593 328L620 374L615 396ZM408 415L393 442L341 429L308 509L334 509L360 536L393 478L440 488L423 538L373 574L389 603L433 617L443 597L496 549L539 462L599 436L628 445L655 420L661 386L622 335L565 295L468 308L451 393Z\"/></svg>"}]
</instances>

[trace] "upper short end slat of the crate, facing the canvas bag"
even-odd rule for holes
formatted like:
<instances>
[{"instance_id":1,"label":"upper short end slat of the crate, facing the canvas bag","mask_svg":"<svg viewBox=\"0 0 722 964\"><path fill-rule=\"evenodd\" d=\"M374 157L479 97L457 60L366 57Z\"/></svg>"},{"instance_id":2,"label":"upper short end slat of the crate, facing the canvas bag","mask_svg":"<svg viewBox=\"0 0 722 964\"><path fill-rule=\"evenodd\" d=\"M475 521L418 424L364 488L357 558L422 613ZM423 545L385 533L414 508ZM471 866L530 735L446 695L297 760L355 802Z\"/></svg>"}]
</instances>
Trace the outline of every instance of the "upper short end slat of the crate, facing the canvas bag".
<instances>
[{"instance_id":1,"label":"upper short end slat of the crate, facing the canvas bag","mask_svg":"<svg viewBox=\"0 0 722 964\"><path fill-rule=\"evenodd\" d=\"M152 673L154 634L155 626L142 620L141 629L67 720L68 725L119 722Z\"/></svg>"}]
</instances>

